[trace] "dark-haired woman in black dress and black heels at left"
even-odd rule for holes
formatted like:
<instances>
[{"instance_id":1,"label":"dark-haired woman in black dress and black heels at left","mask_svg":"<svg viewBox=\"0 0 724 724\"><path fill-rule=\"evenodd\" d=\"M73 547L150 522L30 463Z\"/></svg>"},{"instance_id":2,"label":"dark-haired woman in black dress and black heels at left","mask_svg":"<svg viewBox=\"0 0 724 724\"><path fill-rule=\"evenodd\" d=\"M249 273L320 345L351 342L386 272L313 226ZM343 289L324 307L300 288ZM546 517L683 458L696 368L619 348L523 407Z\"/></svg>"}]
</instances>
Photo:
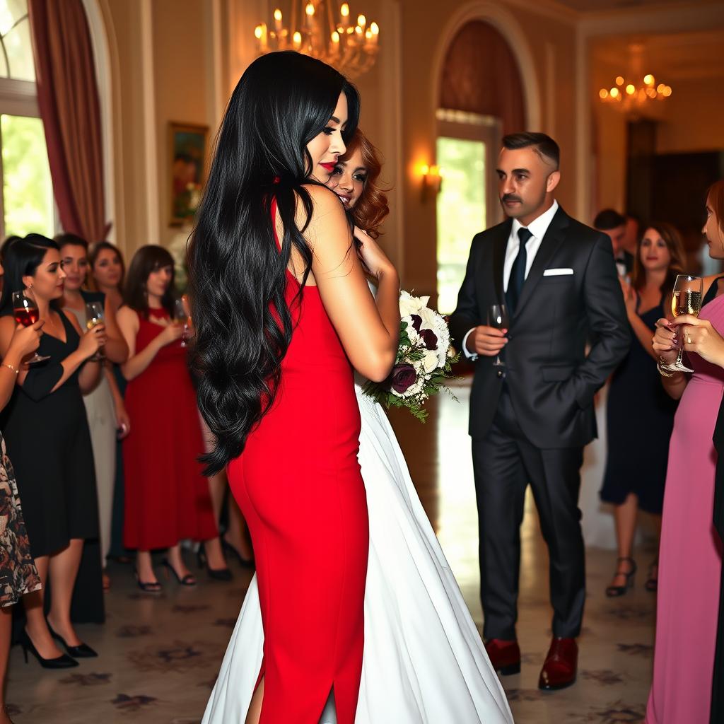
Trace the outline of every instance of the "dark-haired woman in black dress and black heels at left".
<instances>
[{"instance_id":1,"label":"dark-haired woman in black dress and black heels at left","mask_svg":"<svg viewBox=\"0 0 724 724\"><path fill-rule=\"evenodd\" d=\"M47 623L44 592L23 599L27 623L22 643L41 665L58 668L69 662L53 637L73 657L96 655L75 633L71 602L83 542L98 537L93 450L82 391L98 382L101 366L90 358L106 334L103 325L84 334L75 317L59 308L65 274L53 240L30 234L12 243L3 261L0 352L7 351L16 327L12 292L32 297L45 321L38 353L48 359L20 372L20 387L4 409L0 427L17 473L30 552L41 581L49 578L51 584ZM78 587L83 586L86 610L95 610L95 620L103 620L100 557L93 561L95 571L89 570Z\"/></svg>"}]
</instances>

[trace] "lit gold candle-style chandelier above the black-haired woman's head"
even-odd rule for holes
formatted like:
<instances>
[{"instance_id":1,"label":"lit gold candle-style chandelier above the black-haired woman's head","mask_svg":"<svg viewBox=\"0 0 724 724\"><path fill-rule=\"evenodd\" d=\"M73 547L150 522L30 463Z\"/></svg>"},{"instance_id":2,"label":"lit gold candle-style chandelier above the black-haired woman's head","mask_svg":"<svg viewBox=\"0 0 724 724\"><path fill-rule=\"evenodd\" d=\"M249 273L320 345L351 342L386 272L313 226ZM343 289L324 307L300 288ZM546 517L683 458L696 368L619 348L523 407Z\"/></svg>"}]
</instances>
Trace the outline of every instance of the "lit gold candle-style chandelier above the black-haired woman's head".
<instances>
[{"instance_id":1,"label":"lit gold candle-style chandelier above the black-haired woman's head","mask_svg":"<svg viewBox=\"0 0 724 724\"><path fill-rule=\"evenodd\" d=\"M350 20L350 6L343 2L337 13L332 11L334 0L292 0L290 24L282 11L274 10L274 28L262 22L254 29L258 53L295 50L334 66L350 78L367 72L379 51L379 25L367 25L364 15L357 24ZM336 17L335 17L336 15Z\"/></svg>"}]
</instances>

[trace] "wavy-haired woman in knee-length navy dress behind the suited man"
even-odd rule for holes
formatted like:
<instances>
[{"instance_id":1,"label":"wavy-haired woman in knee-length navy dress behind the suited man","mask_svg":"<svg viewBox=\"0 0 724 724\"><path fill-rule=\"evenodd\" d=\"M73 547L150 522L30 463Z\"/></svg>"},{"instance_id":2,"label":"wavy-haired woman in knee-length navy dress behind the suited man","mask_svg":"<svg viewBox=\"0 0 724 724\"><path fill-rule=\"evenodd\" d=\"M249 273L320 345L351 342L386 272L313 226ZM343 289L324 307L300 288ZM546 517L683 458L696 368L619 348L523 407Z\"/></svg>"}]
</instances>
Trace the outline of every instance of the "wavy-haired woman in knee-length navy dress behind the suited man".
<instances>
[{"instance_id":1,"label":"wavy-haired woman in knee-length navy dress behind the suited man","mask_svg":"<svg viewBox=\"0 0 724 724\"><path fill-rule=\"evenodd\" d=\"M633 342L608 392L608 457L600 496L615 505L618 565L606 589L610 597L622 596L633 583L631 552L639 509L661 523L676 401L662 388L651 340L657 319L671 314L671 292L683 259L678 232L669 224L650 224L639 240L631 285L621 282ZM654 562L646 588L655 591L656 584Z\"/></svg>"}]
</instances>

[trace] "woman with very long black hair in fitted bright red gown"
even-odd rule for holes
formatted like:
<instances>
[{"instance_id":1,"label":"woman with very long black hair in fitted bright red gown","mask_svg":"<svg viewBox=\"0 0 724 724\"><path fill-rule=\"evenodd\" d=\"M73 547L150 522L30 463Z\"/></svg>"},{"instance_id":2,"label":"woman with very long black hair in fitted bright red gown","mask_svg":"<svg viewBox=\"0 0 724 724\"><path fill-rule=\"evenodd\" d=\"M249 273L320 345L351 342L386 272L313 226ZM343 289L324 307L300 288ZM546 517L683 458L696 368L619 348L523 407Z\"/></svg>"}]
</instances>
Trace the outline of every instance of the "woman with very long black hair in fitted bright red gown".
<instances>
[{"instance_id":1,"label":"woman with very long black hair in fitted bright red gown","mask_svg":"<svg viewBox=\"0 0 724 724\"><path fill-rule=\"evenodd\" d=\"M353 724L369 544L352 366L387 377L399 277L355 253L321 184L357 125L339 72L296 53L253 62L219 133L189 266L201 412L256 555L264 660L247 724ZM365 270L376 277L376 300ZM350 365L351 362L351 365Z\"/></svg>"}]
</instances>

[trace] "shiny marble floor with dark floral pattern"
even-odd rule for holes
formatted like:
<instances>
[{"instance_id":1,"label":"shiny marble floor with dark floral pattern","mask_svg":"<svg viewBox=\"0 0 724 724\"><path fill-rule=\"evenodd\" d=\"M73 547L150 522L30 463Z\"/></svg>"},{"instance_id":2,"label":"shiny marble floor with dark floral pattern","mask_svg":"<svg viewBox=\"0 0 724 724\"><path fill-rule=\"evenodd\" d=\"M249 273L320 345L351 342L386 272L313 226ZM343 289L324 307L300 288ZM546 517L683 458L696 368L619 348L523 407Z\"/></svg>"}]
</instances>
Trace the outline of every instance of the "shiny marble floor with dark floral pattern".
<instances>
[{"instance_id":1,"label":"shiny marble floor with dark floral pattern","mask_svg":"<svg viewBox=\"0 0 724 724\"><path fill-rule=\"evenodd\" d=\"M392 415L392 422L408 453L424 507L481 627L476 508L466 434L469 390L463 383L454 392L459 402L445 395L432 401L425 425L400 411ZM655 610L654 596L642 586L645 576L625 597L607 599L604 589L615 565L614 554L588 550L589 593L579 639L578 682L564 691L544 693L536 683L550 640L547 552L530 501L522 535L518 637L523 668L520 675L503 678L515 721L640 722L651 677ZM650 551L639 553L644 573L651 557ZM13 649L7 696L13 720L17 724L198 723L251 580L248 571L233 565L232 571L230 583L201 575L195 589L180 589L169 581L164 594L149 597L135 587L129 567L115 565L106 596L106 624L79 627L100 657L56 673L41 669L33 659L25 664L20 649Z\"/></svg>"}]
</instances>

